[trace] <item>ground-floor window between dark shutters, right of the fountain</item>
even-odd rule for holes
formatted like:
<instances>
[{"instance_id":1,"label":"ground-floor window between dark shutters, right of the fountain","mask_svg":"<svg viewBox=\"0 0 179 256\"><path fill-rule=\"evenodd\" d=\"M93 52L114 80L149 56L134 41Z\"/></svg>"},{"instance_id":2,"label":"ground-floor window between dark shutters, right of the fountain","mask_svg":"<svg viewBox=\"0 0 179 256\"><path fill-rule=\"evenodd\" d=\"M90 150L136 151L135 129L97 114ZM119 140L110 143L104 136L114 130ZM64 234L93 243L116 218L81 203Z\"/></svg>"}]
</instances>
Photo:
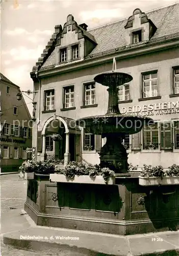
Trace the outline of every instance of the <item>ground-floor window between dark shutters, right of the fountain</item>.
<instances>
[{"instance_id":1,"label":"ground-floor window between dark shutters, right of the fountain","mask_svg":"<svg viewBox=\"0 0 179 256\"><path fill-rule=\"evenodd\" d=\"M143 148L145 150L148 150L149 148L153 148L154 150L159 149L158 123L144 127L144 129L143 129Z\"/></svg>"}]
</instances>

